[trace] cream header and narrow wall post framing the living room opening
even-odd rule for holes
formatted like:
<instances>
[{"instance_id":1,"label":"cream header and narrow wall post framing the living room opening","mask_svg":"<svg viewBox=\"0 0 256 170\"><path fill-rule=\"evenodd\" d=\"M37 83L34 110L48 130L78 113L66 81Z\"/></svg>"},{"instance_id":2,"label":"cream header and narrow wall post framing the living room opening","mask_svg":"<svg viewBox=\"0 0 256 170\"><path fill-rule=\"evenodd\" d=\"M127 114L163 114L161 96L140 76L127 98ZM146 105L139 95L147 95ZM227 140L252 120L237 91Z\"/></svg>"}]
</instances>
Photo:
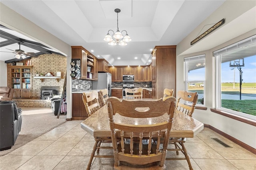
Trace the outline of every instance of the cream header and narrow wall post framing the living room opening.
<instances>
[{"instance_id":1,"label":"cream header and narrow wall post framing the living room opening","mask_svg":"<svg viewBox=\"0 0 256 170\"><path fill-rule=\"evenodd\" d=\"M42 43L67 57L67 63L71 62L71 46L48 33L38 25L27 20L20 14L11 10L4 4L0 4L0 24L14 31L17 31L35 41ZM70 64L67 64L67 72L70 72ZM6 74L7 75L7 74ZM71 77L67 76L67 118L72 117L72 95L71 95Z\"/></svg>"}]
</instances>

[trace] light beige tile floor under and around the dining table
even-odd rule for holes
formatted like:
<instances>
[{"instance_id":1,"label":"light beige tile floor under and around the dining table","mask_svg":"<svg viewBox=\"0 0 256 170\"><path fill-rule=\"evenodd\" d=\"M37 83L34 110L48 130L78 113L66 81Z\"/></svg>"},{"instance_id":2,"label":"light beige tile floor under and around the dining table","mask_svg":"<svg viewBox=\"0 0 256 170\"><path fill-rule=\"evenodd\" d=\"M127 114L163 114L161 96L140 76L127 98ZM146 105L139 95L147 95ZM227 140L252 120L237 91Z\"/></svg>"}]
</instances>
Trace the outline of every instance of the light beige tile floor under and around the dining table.
<instances>
[{"instance_id":1,"label":"light beige tile floor under and around the dining table","mask_svg":"<svg viewBox=\"0 0 256 170\"><path fill-rule=\"evenodd\" d=\"M94 138L80 127L82 121L66 121L30 143L0 157L0 170L85 170ZM211 138L230 145L226 148ZM105 144L105 143L104 143ZM185 143L194 170L256 170L256 155L204 128ZM102 149L100 153L112 150ZM168 152L176 156L175 152ZM178 156L183 156L180 153ZM94 158L91 170L113 170L113 158ZM166 170L188 170L186 160L166 161Z\"/></svg>"}]
</instances>

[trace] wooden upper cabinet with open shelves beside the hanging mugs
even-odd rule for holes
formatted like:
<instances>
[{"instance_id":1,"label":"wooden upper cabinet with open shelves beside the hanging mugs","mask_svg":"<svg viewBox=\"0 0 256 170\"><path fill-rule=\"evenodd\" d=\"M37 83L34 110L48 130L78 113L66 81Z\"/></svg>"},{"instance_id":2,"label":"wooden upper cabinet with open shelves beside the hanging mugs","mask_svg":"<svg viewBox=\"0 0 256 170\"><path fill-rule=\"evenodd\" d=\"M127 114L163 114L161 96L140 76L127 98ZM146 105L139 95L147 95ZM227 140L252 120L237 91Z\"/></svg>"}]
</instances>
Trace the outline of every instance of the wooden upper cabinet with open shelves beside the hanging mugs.
<instances>
[{"instance_id":1,"label":"wooden upper cabinet with open shelves beside the hanging mugs","mask_svg":"<svg viewBox=\"0 0 256 170\"><path fill-rule=\"evenodd\" d=\"M71 46L72 59L80 59L80 79L98 80L98 61L82 46Z\"/></svg>"}]
</instances>

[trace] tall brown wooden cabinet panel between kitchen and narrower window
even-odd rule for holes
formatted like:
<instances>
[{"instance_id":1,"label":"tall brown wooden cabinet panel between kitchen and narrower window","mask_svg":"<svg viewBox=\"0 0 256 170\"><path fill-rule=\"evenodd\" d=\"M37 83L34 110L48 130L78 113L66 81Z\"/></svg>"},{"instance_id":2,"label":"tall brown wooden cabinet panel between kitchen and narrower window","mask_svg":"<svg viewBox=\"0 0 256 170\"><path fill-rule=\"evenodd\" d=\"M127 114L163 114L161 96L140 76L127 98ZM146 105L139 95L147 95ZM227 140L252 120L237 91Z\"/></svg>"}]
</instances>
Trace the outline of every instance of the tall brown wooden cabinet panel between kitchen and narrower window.
<instances>
[{"instance_id":1,"label":"tall brown wooden cabinet panel between kitchen and narrower window","mask_svg":"<svg viewBox=\"0 0 256 170\"><path fill-rule=\"evenodd\" d=\"M156 46L152 51L152 98L163 97L165 88L176 94L176 45Z\"/></svg>"}]
</instances>

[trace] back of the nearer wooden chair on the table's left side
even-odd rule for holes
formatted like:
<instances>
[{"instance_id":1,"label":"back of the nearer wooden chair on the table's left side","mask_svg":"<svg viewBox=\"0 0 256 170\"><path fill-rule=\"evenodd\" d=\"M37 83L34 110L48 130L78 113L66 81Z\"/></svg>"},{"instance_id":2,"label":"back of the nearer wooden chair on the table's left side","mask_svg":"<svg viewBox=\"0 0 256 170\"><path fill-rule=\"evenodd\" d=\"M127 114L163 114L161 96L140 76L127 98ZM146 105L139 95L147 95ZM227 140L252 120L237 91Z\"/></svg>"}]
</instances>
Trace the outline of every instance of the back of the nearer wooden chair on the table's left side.
<instances>
[{"instance_id":1,"label":"back of the nearer wooden chair on the table's left side","mask_svg":"<svg viewBox=\"0 0 256 170\"><path fill-rule=\"evenodd\" d=\"M100 109L98 92L83 92L82 100L84 102L84 107L86 109L88 117L96 112L98 109Z\"/></svg>"}]
</instances>

